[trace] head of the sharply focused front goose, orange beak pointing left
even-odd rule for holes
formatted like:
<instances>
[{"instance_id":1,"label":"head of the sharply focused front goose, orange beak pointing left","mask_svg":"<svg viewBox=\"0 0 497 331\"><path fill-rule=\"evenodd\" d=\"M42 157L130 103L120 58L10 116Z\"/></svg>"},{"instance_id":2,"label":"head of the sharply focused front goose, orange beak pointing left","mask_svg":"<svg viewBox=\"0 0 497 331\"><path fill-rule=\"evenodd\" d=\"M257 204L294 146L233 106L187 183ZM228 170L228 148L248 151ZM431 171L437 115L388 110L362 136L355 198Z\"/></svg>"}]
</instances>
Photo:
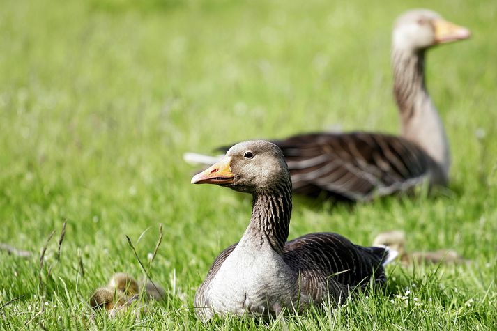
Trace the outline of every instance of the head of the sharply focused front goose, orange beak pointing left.
<instances>
[{"instance_id":1,"label":"head of the sharply focused front goose, orange beak pointing left","mask_svg":"<svg viewBox=\"0 0 497 331\"><path fill-rule=\"evenodd\" d=\"M234 145L222 160L192 178L192 184L217 184L252 194L270 191L282 182L291 185L283 153L263 140Z\"/></svg>"}]
</instances>

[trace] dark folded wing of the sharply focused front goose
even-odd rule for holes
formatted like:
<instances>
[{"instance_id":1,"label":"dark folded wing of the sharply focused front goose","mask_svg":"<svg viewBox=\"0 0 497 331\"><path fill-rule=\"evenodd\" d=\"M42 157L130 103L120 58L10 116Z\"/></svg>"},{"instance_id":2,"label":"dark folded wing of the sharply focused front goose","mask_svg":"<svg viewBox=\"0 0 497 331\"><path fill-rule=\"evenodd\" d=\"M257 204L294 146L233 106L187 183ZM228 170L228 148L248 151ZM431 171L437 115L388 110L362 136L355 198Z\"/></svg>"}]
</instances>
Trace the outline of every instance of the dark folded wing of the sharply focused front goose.
<instances>
[{"instance_id":1,"label":"dark folded wing of the sharply focused front goose","mask_svg":"<svg viewBox=\"0 0 497 331\"><path fill-rule=\"evenodd\" d=\"M319 301L328 291L343 297L349 288L362 288L370 279L385 283L388 254L384 247L354 245L337 233L310 233L286 243L283 256L300 275L303 290Z\"/></svg>"}]
</instances>

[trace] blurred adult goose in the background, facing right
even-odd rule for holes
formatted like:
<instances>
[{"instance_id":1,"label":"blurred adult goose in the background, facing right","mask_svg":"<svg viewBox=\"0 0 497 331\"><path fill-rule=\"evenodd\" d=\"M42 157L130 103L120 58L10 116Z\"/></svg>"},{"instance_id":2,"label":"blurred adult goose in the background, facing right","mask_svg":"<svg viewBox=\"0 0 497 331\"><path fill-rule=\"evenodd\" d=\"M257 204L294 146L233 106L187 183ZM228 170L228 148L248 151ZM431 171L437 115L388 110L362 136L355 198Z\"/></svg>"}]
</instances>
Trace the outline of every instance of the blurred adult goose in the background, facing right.
<instances>
[{"instance_id":1,"label":"blurred adult goose in the background, facing right","mask_svg":"<svg viewBox=\"0 0 497 331\"><path fill-rule=\"evenodd\" d=\"M434 45L469 36L468 29L443 20L431 10L411 10L400 16L392 36L392 67L401 136L319 132L273 141L286 157L293 190L367 201L425 181L445 185L449 144L425 86L425 52ZM197 156L187 153L185 159L211 160Z\"/></svg>"}]
</instances>

